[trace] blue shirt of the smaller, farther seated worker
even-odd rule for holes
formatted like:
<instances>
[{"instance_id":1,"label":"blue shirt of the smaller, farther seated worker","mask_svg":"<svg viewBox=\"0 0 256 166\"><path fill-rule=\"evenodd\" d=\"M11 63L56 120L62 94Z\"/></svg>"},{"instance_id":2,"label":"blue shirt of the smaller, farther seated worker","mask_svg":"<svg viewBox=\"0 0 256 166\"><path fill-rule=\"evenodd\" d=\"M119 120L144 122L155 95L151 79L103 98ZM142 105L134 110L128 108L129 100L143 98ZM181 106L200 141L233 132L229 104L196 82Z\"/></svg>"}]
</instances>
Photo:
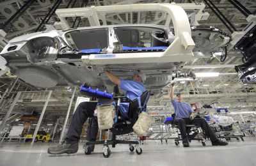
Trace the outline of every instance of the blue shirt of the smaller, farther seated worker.
<instances>
[{"instance_id":1,"label":"blue shirt of the smaller, farther seated worker","mask_svg":"<svg viewBox=\"0 0 256 166\"><path fill-rule=\"evenodd\" d=\"M175 118L188 118L192 112L191 105L186 102L178 102L176 99L172 100Z\"/></svg>"}]
</instances>

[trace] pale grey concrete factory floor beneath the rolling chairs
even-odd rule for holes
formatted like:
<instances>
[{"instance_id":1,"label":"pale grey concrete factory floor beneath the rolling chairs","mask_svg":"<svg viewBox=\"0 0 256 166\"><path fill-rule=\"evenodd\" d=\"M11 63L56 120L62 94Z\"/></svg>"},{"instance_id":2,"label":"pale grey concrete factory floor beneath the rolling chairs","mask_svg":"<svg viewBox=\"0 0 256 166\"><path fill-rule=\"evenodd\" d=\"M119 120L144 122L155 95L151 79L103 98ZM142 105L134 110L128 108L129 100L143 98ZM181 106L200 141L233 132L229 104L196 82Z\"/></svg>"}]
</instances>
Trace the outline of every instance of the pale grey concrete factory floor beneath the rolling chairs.
<instances>
[{"instance_id":1,"label":"pale grey concrete factory floor beneath the rolling chairs","mask_svg":"<svg viewBox=\"0 0 256 166\"><path fill-rule=\"evenodd\" d=\"M95 147L92 155L84 155L83 144L79 151L72 155L49 155L48 146L56 144L36 143L34 146L17 142L3 142L0 144L0 166L7 165L256 165L256 139L244 142L232 141L228 146L211 146L206 142L202 146L199 142L192 142L191 147L176 147L172 140L168 144L160 141L145 142L143 153L130 153L127 145L111 147L111 156L102 156L102 146Z\"/></svg>"}]
</instances>

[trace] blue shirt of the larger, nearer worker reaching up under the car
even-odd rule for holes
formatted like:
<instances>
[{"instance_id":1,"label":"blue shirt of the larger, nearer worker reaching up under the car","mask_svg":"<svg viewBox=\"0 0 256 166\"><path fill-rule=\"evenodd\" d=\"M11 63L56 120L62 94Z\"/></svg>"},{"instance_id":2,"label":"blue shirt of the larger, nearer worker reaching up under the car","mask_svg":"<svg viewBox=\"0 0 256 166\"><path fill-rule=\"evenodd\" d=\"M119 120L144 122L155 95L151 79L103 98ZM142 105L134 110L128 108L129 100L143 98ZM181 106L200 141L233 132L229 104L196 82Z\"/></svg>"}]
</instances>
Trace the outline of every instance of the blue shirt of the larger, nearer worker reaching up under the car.
<instances>
[{"instance_id":1,"label":"blue shirt of the larger, nearer worker reaching up under the car","mask_svg":"<svg viewBox=\"0 0 256 166\"><path fill-rule=\"evenodd\" d=\"M146 87L135 80L120 80L120 89L126 91L125 96L130 100L138 98L146 91ZM120 103L119 111L122 116L129 118L129 103Z\"/></svg>"}]
</instances>

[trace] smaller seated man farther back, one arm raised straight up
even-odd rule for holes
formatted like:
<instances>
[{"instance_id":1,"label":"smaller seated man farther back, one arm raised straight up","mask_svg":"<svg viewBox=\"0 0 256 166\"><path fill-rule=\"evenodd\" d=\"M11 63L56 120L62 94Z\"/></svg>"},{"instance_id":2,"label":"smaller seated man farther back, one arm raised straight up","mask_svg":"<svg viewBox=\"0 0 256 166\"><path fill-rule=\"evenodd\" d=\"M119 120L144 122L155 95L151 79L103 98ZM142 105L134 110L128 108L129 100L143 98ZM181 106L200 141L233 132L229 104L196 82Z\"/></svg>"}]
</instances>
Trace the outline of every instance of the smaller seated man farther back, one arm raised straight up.
<instances>
[{"instance_id":1,"label":"smaller seated man farther back, one arm raised straight up","mask_svg":"<svg viewBox=\"0 0 256 166\"><path fill-rule=\"evenodd\" d=\"M172 105L174 108L175 122L178 124L180 135L182 137L182 144L184 147L189 147L188 135L186 133L186 124L195 124L204 130L205 136L209 137L212 146L225 146L228 143L221 141L215 135L215 133L211 130L209 124L205 121L204 118L195 118L195 113L191 108L189 103L183 102L182 96L180 93L176 95L176 99L174 98L174 84L172 84L172 88L170 91L170 99L172 100Z\"/></svg>"}]
</instances>

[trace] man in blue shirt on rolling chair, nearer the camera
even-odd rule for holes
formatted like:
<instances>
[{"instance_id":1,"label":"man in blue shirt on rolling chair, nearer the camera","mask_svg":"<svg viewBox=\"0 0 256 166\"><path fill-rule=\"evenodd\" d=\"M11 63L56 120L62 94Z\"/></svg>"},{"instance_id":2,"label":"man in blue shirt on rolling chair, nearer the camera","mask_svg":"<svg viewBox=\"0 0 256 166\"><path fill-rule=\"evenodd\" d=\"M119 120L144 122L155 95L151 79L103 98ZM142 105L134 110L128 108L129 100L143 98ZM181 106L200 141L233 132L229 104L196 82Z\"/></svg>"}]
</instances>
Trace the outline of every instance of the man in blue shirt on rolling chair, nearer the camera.
<instances>
[{"instance_id":1,"label":"man in blue shirt on rolling chair, nearer the camera","mask_svg":"<svg viewBox=\"0 0 256 166\"><path fill-rule=\"evenodd\" d=\"M146 80L146 75L141 72L134 72L132 80L120 80L118 77L113 75L109 69L105 70L108 79L111 80L114 84L120 86L120 89L126 91L125 96L131 100L138 98L145 91L145 86L141 83ZM72 117L70 127L68 129L65 140L62 144L59 144L55 147L49 147L48 153L52 155L60 155L62 153L76 153L78 150L78 143L80 135L82 132L83 124L88 117L91 117L90 126L86 135L87 141L96 141L98 133L98 121L97 117L93 116L94 110L96 109L97 102L83 102L80 103L76 109L75 114ZM125 112L128 113L129 103L120 104L120 112L123 112L122 115L125 115ZM94 145L92 146L92 151Z\"/></svg>"}]
</instances>

